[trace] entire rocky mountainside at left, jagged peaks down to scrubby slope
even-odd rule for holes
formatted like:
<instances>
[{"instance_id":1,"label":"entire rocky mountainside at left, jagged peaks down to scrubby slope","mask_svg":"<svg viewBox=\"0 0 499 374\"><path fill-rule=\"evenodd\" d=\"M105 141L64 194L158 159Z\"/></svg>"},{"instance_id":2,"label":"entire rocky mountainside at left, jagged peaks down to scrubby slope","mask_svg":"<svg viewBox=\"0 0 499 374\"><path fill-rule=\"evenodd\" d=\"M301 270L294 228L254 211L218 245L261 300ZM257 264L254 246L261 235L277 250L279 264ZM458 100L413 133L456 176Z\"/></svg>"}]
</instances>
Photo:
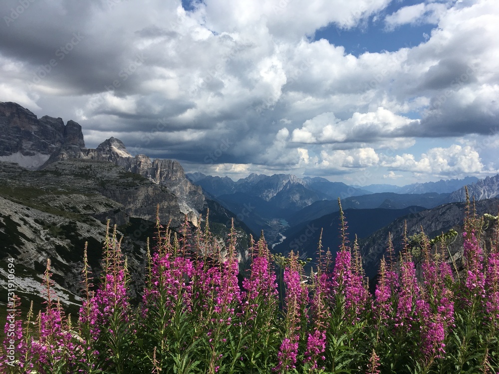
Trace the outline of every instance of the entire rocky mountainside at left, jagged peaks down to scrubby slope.
<instances>
[{"instance_id":1,"label":"entire rocky mountainside at left, jagged peaks down to scrubby slope","mask_svg":"<svg viewBox=\"0 0 499 374\"><path fill-rule=\"evenodd\" d=\"M123 237L133 292L139 291L145 241L155 235L157 207L161 222L171 221L173 229L186 215L193 229L202 228L199 217L206 216L209 208L210 226L221 243L235 218L237 249L240 258L246 258L248 227L206 198L178 162L132 157L115 138L87 149L77 123L64 125L62 119L47 116L37 119L15 103L0 103L0 131L0 290L6 284L4 259L12 257L18 271L17 293L26 298L39 294L40 275L50 258L61 300L66 305L78 303L85 242L98 274L110 220Z\"/></svg>"}]
</instances>

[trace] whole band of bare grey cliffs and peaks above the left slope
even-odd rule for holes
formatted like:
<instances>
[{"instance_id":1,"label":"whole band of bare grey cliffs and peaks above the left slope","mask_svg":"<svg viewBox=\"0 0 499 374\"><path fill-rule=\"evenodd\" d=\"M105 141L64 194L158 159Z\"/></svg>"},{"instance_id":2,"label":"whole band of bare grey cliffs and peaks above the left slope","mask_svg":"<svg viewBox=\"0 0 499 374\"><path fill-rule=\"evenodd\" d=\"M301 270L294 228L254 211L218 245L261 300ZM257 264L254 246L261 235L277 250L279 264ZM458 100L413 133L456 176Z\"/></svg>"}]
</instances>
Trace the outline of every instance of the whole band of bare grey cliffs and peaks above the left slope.
<instances>
[{"instance_id":1,"label":"whole band of bare grey cliffs and peaks above the left slope","mask_svg":"<svg viewBox=\"0 0 499 374\"><path fill-rule=\"evenodd\" d=\"M206 205L202 188L186 178L177 161L151 160L144 155L132 157L116 138L102 142L96 149L87 149L81 126L74 121L64 125L61 118L37 119L18 104L0 103L0 131L5 134L0 140L0 161L14 162L30 170L44 169L62 160L106 161L166 186L177 196L180 212L187 214L195 225Z\"/></svg>"}]
</instances>

